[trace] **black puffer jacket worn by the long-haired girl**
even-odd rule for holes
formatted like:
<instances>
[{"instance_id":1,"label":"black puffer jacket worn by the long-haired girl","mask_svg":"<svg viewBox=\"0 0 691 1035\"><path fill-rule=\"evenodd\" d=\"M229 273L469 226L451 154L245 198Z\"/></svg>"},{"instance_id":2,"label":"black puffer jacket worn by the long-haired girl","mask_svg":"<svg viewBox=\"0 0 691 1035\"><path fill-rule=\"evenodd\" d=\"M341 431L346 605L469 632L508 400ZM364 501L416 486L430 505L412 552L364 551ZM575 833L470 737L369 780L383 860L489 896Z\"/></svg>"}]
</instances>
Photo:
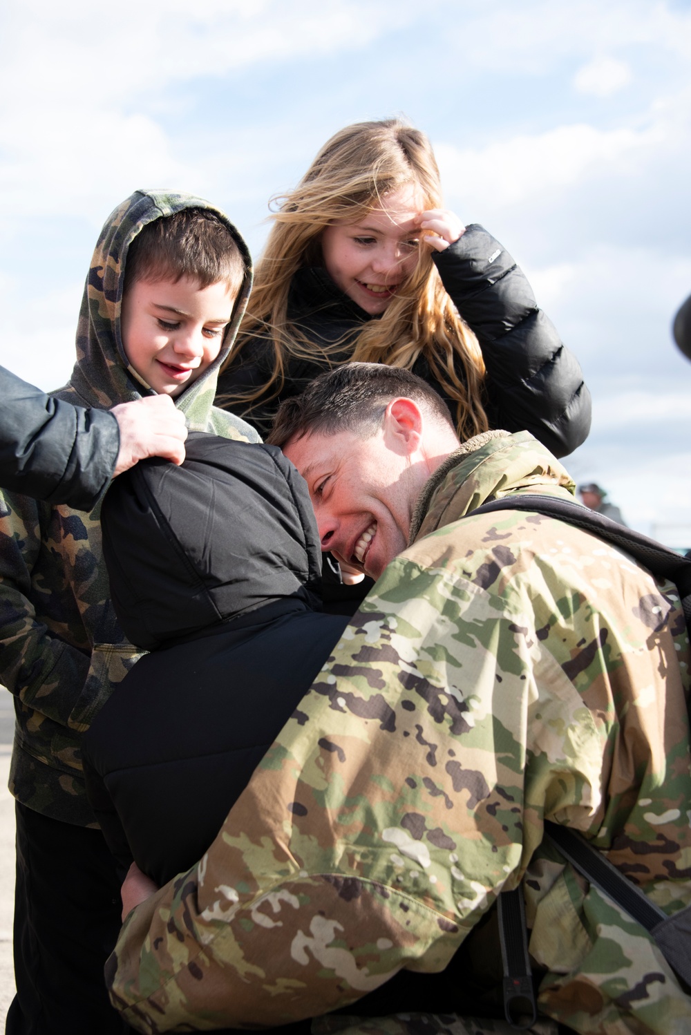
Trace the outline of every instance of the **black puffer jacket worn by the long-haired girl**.
<instances>
[{"instance_id":1,"label":"black puffer jacket worn by the long-haired girl","mask_svg":"<svg viewBox=\"0 0 691 1035\"><path fill-rule=\"evenodd\" d=\"M463 320L475 331L487 369L486 411L491 427L531 432L550 452L565 456L588 437L591 396L580 366L565 348L548 318L537 307L522 271L482 227L470 226L445 252L433 257L444 287ZM291 286L289 319L316 344L344 339L334 364L348 362L362 325L372 319L344 295L322 267L300 269ZM258 337L233 354L218 378L216 404L266 384L273 368L270 344ZM278 404L296 395L324 369L319 359L288 365L277 398L261 395L251 408L230 408L266 436ZM413 373L447 400L427 361ZM452 412L454 407L451 406Z\"/></svg>"}]
</instances>

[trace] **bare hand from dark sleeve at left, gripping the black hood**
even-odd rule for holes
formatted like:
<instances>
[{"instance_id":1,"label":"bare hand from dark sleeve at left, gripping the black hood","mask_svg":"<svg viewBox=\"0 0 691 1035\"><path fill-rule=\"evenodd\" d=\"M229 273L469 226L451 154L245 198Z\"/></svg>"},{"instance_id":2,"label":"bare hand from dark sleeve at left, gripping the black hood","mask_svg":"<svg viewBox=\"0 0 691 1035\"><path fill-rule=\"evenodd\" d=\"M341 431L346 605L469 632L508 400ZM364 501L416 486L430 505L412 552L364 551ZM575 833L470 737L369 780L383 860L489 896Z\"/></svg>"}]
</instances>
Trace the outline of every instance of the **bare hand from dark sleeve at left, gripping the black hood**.
<instances>
[{"instance_id":1,"label":"bare hand from dark sleeve at left, gripping the black hood","mask_svg":"<svg viewBox=\"0 0 691 1035\"><path fill-rule=\"evenodd\" d=\"M120 427L120 452L113 477L147 456L163 456L180 465L185 459L185 418L169 395L147 395L121 403L111 413Z\"/></svg>"}]
</instances>

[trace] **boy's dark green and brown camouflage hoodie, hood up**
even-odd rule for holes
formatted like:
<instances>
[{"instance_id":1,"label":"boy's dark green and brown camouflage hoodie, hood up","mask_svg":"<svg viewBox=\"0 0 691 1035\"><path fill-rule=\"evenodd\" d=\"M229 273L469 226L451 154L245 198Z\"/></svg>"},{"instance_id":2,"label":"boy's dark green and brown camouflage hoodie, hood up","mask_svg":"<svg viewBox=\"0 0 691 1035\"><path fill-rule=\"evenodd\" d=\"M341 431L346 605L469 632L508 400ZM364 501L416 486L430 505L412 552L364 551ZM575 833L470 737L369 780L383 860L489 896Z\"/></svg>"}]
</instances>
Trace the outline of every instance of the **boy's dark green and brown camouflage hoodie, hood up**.
<instances>
[{"instance_id":1,"label":"boy's dark green and brown camouflage hoodie, hood up","mask_svg":"<svg viewBox=\"0 0 691 1035\"><path fill-rule=\"evenodd\" d=\"M146 224L184 208L223 219L240 248L245 277L220 354L176 400L196 431L258 441L244 421L213 407L251 288L247 246L222 212L190 195L138 190L107 220L91 262L77 332L77 363L54 392L78 406L109 409L150 392L128 368L120 308L127 249ZM80 735L139 654L118 628L101 561L99 507L0 495L0 680L16 696L10 771L16 798L44 816L94 823L84 793Z\"/></svg>"}]
</instances>

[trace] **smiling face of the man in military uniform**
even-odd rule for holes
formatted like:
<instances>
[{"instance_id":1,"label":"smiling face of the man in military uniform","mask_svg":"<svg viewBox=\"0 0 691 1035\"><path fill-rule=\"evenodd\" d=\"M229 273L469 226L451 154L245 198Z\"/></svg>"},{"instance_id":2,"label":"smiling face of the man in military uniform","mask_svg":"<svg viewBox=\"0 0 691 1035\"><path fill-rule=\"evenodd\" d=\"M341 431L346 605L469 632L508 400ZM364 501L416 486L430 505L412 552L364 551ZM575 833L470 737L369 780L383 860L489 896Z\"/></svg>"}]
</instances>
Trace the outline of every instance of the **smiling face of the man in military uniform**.
<instances>
[{"instance_id":1,"label":"smiling face of the man in military uniform","mask_svg":"<svg viewBox=\"0 0 691 1035\"><path fill-rule=\"evenodd\" d=\"M425 480L384 430L305 435L283 452L307 482L322 550L372 579L408 545L413 507Z\"/></svg>"}]
</instances>

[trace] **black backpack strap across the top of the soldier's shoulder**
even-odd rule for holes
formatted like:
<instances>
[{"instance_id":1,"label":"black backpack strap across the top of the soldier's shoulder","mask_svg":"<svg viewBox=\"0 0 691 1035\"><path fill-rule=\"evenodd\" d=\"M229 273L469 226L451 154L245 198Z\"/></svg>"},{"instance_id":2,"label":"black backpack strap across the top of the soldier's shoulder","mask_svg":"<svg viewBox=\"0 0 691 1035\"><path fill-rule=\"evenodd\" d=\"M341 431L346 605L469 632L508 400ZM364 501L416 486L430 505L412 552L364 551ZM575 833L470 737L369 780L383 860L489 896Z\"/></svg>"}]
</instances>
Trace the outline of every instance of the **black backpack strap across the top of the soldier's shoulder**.
<instances>
[{"instance_id":1,"label":"black backpack strap across the top of the soldier's shoulder","mask_svg":"<svg viewBox=\"0 0 691 1035\"><path fill-rule=\"evenodd\" d=\"M471 510L467 516L490 513L493 510L532 510L557 518L559 521L575 525L585 532L592 532L613 546L618 546L633 557L658 579L670 579L675 583L682 600L687 625L691 625L691 560L650 539L632 528L626 528L604 514L596 513L579 503L562 500L557 496L541 496L537 493L522 493L503 496L490 503Z\"/></svg>"}]
</instances>

